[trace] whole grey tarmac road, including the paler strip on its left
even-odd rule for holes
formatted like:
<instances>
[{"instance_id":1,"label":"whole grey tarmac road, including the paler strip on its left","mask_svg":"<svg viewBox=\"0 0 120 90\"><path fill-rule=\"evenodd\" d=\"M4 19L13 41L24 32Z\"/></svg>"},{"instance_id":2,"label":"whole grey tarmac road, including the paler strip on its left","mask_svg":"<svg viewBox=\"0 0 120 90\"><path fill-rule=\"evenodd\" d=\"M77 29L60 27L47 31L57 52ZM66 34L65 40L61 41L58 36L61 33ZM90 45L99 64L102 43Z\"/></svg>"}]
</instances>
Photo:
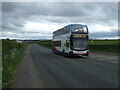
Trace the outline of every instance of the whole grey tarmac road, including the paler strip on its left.
<instances>
[{"instance_id":1,"label":"whole grey tarmac road, including the paler strip on its left","mask_svg":"<svg viewBox=\"0 0 120 90\"><path fill-rule=\"evenodd\" d=\"M31 44L26 53L17 71L15 88L118 87L117 56L69 58L37 44Z\"/></svg>"}]
</instances>

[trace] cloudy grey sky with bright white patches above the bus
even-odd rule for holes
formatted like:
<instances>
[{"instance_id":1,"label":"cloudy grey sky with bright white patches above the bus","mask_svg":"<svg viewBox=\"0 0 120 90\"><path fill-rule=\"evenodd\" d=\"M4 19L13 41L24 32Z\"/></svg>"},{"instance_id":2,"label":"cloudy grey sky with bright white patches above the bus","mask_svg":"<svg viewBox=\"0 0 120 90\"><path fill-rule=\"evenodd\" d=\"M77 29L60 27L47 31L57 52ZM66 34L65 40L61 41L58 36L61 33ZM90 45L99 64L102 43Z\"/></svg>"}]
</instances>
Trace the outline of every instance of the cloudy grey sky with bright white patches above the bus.
<instances>
[{"instance_id":1,"label":"cloudy grey sky with bright white patches above the bus","mask_svg":"<svg viewBox=\"0 0 120 90\"><path fill-rule=\"evenodd\" d=\"M118 38L118 3L2 2L1 38L51 39L68 24L87 25L90 38Z\"/></svg>"}]
</instances>

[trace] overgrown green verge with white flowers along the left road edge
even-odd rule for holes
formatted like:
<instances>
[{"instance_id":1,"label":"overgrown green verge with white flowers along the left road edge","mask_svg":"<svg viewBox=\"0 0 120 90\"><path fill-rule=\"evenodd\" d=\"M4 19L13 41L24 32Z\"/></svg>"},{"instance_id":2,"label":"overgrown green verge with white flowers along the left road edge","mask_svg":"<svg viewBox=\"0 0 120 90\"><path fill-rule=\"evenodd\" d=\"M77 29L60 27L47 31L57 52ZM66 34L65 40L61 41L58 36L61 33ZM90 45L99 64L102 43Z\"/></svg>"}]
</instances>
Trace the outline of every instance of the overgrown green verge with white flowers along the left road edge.
<instances>
[{"instance_id":1,"label":"overgrown green verge with white flowers along the left road edge","mask_svg":"<svg viewBox=\"0 0 120 90\"><path fill-rule=\"evenodd\" d=\"M11 88L17 66L22 61L26 43L2 40L2 88Z\"/></svg>"}]
</instances>

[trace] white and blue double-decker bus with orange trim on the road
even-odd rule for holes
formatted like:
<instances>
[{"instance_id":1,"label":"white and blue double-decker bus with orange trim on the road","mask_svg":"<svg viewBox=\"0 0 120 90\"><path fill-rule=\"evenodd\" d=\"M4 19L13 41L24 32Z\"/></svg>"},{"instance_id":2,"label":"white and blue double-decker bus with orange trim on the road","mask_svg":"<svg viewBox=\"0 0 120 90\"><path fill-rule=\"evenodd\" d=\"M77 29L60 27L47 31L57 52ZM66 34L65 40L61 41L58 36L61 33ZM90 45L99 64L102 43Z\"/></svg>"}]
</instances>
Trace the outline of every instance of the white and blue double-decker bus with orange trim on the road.
<instances>
[{"instance_id":1,"label":"white and blue double-decker bus with orange trim on the road","mask_svg":"<svg viewBox=\"0 0 120 90\"><path fill-rule=\"evenodd\" d=\"M53 53L68 56L88 56L88 27L81 24L69 24L53 32Z\"/></svg>"}]
</instances>

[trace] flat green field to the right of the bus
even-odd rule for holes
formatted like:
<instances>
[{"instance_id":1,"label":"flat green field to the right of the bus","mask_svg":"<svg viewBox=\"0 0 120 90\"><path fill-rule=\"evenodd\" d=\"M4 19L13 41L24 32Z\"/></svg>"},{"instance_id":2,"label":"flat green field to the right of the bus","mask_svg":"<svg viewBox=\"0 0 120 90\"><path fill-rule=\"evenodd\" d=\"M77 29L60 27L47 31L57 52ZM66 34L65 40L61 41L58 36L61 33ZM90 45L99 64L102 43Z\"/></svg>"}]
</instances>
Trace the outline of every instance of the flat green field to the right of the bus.
<instances>
[{"instance_id":1,"label":"flat green field to the right of the bus","mask_svg":"<svg viewBox=\"0 0 120 90\"><path fill-rule=\"evenodd\" d=\"M120 53L119 40L93 40L89 41L89 49L92 52Z\"/></svg>"}]
</instances>

